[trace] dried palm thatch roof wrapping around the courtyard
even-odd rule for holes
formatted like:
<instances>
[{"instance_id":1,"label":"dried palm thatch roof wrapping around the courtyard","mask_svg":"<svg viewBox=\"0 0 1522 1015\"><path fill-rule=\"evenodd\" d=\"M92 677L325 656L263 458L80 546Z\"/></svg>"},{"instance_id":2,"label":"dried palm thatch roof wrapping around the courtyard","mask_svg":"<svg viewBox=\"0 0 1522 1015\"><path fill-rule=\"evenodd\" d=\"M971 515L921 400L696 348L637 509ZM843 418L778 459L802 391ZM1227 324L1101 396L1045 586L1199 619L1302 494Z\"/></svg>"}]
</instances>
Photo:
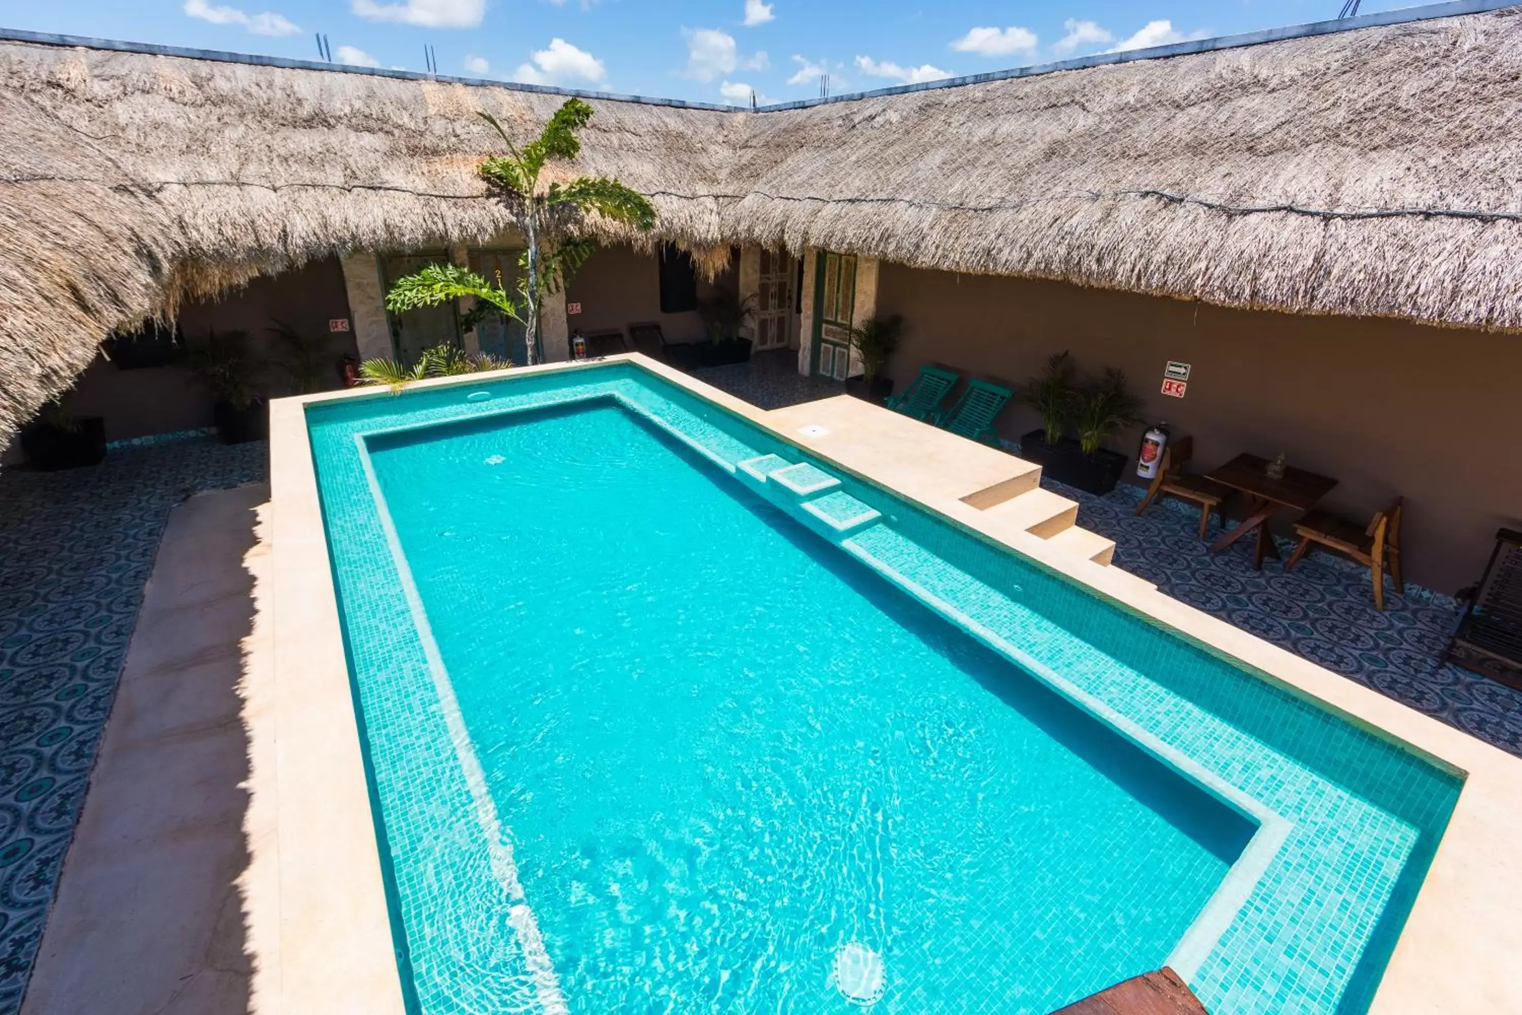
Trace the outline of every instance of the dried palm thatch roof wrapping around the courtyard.
<instances>
[{"instance_id":1,"label":"dried palm thatch roof wrapping around the courtyard","mask_svg":"<svg viewBox=\"0 0 1522 1015\"><path fill-rule=\"evenodd\" d=\"M0 43L0 438L108 330L349 250L484 242L552 94ZM598 100L670 239L1522 329L1517 9L761 114ZM604 228L609 237L616 230Z\"/></svg>"}]
</instances>

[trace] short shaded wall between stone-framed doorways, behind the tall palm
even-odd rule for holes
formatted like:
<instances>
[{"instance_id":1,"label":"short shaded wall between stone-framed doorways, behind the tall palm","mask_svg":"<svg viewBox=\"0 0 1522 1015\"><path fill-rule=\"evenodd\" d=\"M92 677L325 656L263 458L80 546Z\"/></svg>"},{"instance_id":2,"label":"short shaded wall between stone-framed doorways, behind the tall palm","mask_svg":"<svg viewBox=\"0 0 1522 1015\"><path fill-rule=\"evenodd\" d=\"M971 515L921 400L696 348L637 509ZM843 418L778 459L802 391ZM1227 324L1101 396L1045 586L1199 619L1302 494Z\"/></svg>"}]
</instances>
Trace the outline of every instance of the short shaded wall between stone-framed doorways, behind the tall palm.
<instances>
[{"instance_id":1,"label":"short shaded wall between stone-framed doorways, behind the tall palm","mask_svg":"<svg viewBox=\"0 0 1522 1015\"><path fill-rule=\"evenodd\" d=\"M731 265L729 274L735 272L737 266ZM731 277L728 283L734 286L737 278ZM712 295L714 286L699 278L697 298L708 300ZM603 247L592 254L566 286L565 298L581 304L581 313L568 317L566 323L583 333L618 329L627 336L630 324L658 321L668 342L708 338L696 310L661 312L661 268L656 256L642 254L632 247Z\"/></svg>"}]
</instances>

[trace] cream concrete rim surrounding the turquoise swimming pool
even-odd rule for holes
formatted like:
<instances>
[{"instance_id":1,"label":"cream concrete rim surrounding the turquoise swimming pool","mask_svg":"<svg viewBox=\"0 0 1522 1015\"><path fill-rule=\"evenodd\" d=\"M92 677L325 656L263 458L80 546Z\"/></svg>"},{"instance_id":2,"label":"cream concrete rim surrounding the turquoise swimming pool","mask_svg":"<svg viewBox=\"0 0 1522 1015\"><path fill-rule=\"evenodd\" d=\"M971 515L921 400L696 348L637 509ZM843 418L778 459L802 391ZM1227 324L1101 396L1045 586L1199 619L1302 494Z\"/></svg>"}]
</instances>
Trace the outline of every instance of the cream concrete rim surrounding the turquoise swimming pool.
<instances>
[{"instance_id":1,"label":"cream concrete rim surrounding the turquoise swimming pool","mask_svg":"<svg viewBox=\"0 0 1522 1015\"><path fill-rule=\"evenodd\" d=\"M849 444L880 447L884 428L896 426L884 418L883 409L866 403L860 408L823 408L836 402L831 399L793 406L778 415L648 359L627 359L785 440L807 446L842 469L881 481L872 472L878 466L860 457L854 464L846 460L851 458ZM533 370L568 368L578 367ZM514 373L527 374L530 370ZM476 382L447 379L423 383ZM352 391L286 399L271 406L275 700L268 712L254 717L256 732L251 735L257 740L257 730L272 723L277 738L272 770L256 767L251 791L256 800L277 802L279 870L271 873L268 884L274 896L269 912L279 910L279 928L269 937L251 940L251 948L256 968L277 978L279 985L269 992L256 991L254 1010L400 1015L405 1010L402 986L304 422L307 402L333 397L387 396ZM796 432L814 425L829 434L808 438ZM983 453L988 449L962 444L970 449L968 455L986 461ZM963 469L959 449L947 447L938 449L939 458L930 463L933 469L915 479L921 485L913 492L900 492L1126 609L1172 625L1215 651L1262 671L1265 679L1467 773L1449 831L1371 1010L1382 1015L1522 1010L1522 983L1508 966L1508 959L1522 950L1522 913L1514 905L1514 899L1522 898L1522 858L1514 851L1514 843L1522 840L1522 761L1187 607L1145 581L1055 546L1032 531L988 531L979 522L988 517L983 511L992 508L966 502L977 492L968 488L968 476L986 466L970 460ZM1006 479L1021 472L1023 463L1012 461L1017 464ZM983 482L982 476L974 476L971 485L979 482ZM979 488L988 488L988 484ZM271 604L263 595L259 607L259 616L268 618Z\"/></svg>"}]
</instances>

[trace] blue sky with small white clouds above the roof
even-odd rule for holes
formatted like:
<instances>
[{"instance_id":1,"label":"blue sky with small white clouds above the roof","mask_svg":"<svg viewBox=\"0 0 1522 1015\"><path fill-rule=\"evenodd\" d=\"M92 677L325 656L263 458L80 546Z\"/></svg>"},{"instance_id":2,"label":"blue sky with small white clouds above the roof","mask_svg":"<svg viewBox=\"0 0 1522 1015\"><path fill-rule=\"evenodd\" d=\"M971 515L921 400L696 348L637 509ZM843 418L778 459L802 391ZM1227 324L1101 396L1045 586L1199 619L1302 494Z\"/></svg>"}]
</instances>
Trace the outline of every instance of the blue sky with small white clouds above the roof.
<instances>
[{"instance_id":1,"label":"blue sky with small white clouds above the roof","mask_svg":"<svg viewBox=\"0 0 1522 1015\"><path fill-rule=\"evenodd\" d=\"M1365 0L1362 12L1408 3ZM1333 18L1341 0L0 0L0 26L636 94L808 99Z\"/></svg>"}]
</instances>

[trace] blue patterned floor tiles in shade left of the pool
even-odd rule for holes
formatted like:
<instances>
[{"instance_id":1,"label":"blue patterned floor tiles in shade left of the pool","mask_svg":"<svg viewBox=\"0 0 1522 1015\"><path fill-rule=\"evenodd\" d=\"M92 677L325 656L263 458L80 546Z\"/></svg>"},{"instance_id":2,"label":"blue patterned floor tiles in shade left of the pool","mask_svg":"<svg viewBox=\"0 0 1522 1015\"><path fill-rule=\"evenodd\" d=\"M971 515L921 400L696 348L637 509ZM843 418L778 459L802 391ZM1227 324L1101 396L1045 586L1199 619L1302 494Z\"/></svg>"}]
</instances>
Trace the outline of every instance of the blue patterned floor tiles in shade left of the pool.
<instances>
[{"instance_id":1,"label":"blue patterned floor tiles in shade left of the pool","mask_svg":"<svg viewBox=\"0 0 1522 1015\"><path fill-rule=\"evenodd\" d=\"M21 1007L169 508L263 479L266 455L192 440L0 472L0 1015Z\"/></svg>"}]
</instances>

